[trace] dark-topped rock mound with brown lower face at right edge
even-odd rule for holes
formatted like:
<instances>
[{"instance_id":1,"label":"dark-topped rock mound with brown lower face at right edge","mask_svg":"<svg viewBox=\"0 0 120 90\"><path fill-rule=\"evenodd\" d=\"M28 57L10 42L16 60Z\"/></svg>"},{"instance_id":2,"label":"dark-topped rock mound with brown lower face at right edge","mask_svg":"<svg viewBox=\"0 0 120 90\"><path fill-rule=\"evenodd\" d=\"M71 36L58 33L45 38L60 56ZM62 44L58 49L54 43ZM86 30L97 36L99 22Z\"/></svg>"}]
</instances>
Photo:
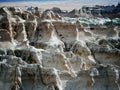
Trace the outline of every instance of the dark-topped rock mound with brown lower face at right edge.
<instances>
[{"instance_id":1,"label":"dark-topped rock mound with brown lower face at right edge","mask_svg":"<svg viewBox=\"0 0 120 90\"><path fill-rule=\"evenodd\" d=\"M89 42L88 47L94 53L94 57L98 63L119 66L119 44L119 39L101 39L97 44Z\"/></svg>"}]
</instances>

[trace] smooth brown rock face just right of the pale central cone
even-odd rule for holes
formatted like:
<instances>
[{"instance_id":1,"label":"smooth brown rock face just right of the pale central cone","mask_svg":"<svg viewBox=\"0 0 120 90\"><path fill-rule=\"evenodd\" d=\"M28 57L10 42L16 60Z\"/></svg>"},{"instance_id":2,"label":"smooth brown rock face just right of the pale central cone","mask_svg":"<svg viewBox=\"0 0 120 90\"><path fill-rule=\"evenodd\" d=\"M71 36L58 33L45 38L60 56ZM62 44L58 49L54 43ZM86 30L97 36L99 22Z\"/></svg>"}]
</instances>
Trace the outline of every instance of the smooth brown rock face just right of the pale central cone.
<instances>
[{"instance_id":1,"label":"smooth brown rock face just right of the pale central cone","mask_svg":"<svg viewBox=\"0 0 120 90\"><path fill-rule=\"evenodd\" d=\"M58 37L66 43L73 43L77 40L77 27L75 24L64 23L64 22L55 22L55 30L58 34Z\"/></svg>"}]
</instances>

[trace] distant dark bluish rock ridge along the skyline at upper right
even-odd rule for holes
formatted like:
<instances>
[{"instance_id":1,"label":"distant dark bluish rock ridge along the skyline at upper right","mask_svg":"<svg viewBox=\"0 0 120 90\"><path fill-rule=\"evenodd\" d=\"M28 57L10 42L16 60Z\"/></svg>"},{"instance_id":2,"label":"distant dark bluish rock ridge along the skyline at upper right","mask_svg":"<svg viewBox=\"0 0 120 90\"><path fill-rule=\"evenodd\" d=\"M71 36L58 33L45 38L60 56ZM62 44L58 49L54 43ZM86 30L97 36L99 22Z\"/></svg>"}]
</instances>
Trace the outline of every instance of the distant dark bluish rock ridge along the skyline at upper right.
<instances>
[{"instance_id":1,"label":"distant dark bluish rock ridge along the skyline at upper right","mask_svg":"<svg viewBox=\"0 0 120 90\"><path fill-rule=\"evenodd\" d=\"M95 5L95 6L82 6L80 9L73 9L71 11L61 10L58 7L51 9L54 13L59 13L61 16L71 18L86 17L86 18L120 18L120 3L117 5Z\"/></svg>"}]
</instances>

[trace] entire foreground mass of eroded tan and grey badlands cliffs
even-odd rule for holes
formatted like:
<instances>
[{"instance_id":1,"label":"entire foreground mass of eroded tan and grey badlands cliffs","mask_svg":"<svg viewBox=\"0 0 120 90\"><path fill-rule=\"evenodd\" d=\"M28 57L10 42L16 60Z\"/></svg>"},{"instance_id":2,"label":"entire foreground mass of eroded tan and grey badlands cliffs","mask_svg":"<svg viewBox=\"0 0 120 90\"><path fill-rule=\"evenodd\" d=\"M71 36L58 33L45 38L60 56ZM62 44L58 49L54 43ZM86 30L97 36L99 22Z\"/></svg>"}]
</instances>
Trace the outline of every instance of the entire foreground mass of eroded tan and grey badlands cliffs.
<instances>
[{"instance_id":1,"label":"entire foreground mass of eroded tan and grey badlands cliffs","mask_svg":"<svg viewBox=\"0 0 120 90\"><path fill-rule=\"evenodd\" d=\"M119 36L119 26L2 7L0 90L120 90Z\"/></svg>"}]
</instances>

